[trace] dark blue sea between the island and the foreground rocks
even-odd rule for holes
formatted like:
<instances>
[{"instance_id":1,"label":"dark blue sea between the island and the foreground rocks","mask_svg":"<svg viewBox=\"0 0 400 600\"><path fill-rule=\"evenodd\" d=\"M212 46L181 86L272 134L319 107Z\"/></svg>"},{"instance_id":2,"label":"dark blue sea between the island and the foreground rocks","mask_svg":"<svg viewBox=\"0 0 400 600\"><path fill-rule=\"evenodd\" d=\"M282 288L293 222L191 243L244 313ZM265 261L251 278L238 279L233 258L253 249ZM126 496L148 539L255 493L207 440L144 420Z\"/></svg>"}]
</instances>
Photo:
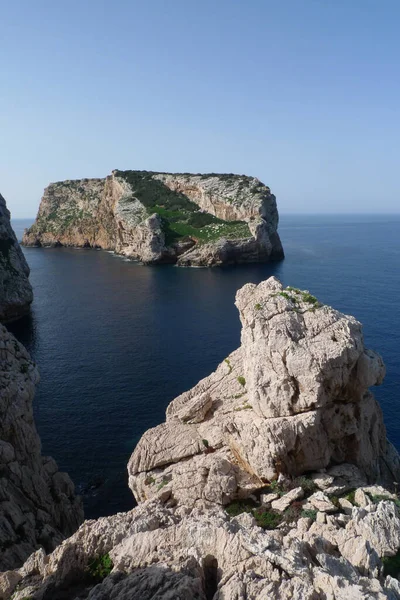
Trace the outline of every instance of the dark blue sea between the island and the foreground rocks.
<instances>
[{"instance_id":1,"label":"dark blue sea between the island and the foreground rocks","mask_svg":"<svg viewBox=\"0 0 400 600\"><path fill-rule=\"evenodd\" d=\"M21 237L30 222L15 221ZM226 269L144 267L95 250L24 250L32 317L13 326L40 367L43 451L95 517L133 505L126 463L167 404L239 345L233 305L247 282L276 275L364 323L388 374L375 388L400 448L400 216L283 216L286 259Z\"/></svg>"}]
</instances>

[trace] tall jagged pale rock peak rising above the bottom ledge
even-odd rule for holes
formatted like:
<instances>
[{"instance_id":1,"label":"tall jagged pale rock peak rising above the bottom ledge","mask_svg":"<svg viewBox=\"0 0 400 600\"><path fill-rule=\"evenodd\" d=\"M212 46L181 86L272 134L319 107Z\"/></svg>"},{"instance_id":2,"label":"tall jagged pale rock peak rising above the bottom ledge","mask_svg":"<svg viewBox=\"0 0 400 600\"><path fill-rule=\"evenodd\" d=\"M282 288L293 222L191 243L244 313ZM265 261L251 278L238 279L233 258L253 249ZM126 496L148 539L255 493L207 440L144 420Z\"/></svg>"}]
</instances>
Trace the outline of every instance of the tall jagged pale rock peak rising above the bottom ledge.
<instances>
[{"instance_id":1,"label":"tall jagged pale rock peak rising above the bottom ledge","mask_svg":"<svg viewBox=\"0 0 400 600\"><path fill-rule=\"evenodd\" d=\"M245 285L236 305L241 347L137 445L128 465L137 500L154 497L163 481L180 503L210 500L221 459L230 465L229 484L214 494L221 504L314 469L328 468L314 476L326 494L397 481L399 457L367 389L384 366L365 349L361 324L273 277Z\"/></svg>"}]
</instances>

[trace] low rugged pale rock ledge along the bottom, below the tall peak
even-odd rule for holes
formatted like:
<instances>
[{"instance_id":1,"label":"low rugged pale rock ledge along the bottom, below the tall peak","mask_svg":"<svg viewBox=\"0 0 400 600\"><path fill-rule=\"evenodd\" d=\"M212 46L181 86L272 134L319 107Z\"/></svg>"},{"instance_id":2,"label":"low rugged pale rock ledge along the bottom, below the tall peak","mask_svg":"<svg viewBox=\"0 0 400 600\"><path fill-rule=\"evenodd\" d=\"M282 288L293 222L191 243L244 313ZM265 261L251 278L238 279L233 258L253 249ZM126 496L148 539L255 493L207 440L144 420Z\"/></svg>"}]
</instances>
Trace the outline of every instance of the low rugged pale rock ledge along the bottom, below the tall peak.
<instances>
[{"instance_id":1,"label":"low rugged pale rock ledge along the bottom, below the tall peak","mask_svg":"<svg viewBox=\"0 0 400 600\"><path fill-rule=\"evenodd\" d=\"M352 485L355 471L343 465L340 477L313 477L319 485L330 477L338 488ZM309 495L313 479L301 482ZM87 521L51 555L39 550L21 569L0 574L0 598L399 600L399 501L381 488L357 491L369 504L357 506L353 493L350 514L304 508L307 498L283 513L258 501L225 511L147 500Z\"/></svg>"}]
</instances>

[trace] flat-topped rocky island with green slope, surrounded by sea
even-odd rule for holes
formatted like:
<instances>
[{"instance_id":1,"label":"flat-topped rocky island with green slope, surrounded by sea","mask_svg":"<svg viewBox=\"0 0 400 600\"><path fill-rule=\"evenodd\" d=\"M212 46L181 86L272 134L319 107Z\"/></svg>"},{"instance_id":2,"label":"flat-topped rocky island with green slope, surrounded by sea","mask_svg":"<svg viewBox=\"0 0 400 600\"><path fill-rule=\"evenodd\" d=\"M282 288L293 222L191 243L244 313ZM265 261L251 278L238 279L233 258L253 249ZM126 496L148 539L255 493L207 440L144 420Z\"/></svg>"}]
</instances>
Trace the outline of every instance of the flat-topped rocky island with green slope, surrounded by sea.
<instances>
[{"instance_id":1,"label":"flat-topped rocky island with green slope, surrounded by sea","mask_svg":"<svg viewBox=\"0 0 400 600\"><path fill-rule=\"evenodd\" d=\"M283 258L277 227L275 197L254 177L114 171L51 184L23 243L213 266Z\"/></svg>"}]
</instances>

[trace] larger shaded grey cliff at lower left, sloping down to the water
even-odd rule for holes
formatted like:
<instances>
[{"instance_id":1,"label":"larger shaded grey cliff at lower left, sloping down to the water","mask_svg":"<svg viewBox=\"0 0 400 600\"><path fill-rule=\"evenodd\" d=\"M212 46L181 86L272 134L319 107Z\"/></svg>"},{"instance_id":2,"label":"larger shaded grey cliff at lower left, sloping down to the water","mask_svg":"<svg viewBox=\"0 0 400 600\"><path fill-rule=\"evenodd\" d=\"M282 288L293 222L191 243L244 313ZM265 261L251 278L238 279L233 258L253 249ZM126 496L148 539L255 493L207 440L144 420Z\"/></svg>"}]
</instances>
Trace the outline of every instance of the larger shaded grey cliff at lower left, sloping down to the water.
<instances>
[{"instance_id":1,"label":"larger shaded grey cliff at lower left, sloping down to the water","mask_svg":"<svg viewBox=\"0 0 400 600\"><path fill-rule=\"evenodd\" d=\"M0 325L0 569L20 566L37 548L54 549L83 520L74 486L41 456L32 413L38 372Z\"/></svg>"}]
</instances>

